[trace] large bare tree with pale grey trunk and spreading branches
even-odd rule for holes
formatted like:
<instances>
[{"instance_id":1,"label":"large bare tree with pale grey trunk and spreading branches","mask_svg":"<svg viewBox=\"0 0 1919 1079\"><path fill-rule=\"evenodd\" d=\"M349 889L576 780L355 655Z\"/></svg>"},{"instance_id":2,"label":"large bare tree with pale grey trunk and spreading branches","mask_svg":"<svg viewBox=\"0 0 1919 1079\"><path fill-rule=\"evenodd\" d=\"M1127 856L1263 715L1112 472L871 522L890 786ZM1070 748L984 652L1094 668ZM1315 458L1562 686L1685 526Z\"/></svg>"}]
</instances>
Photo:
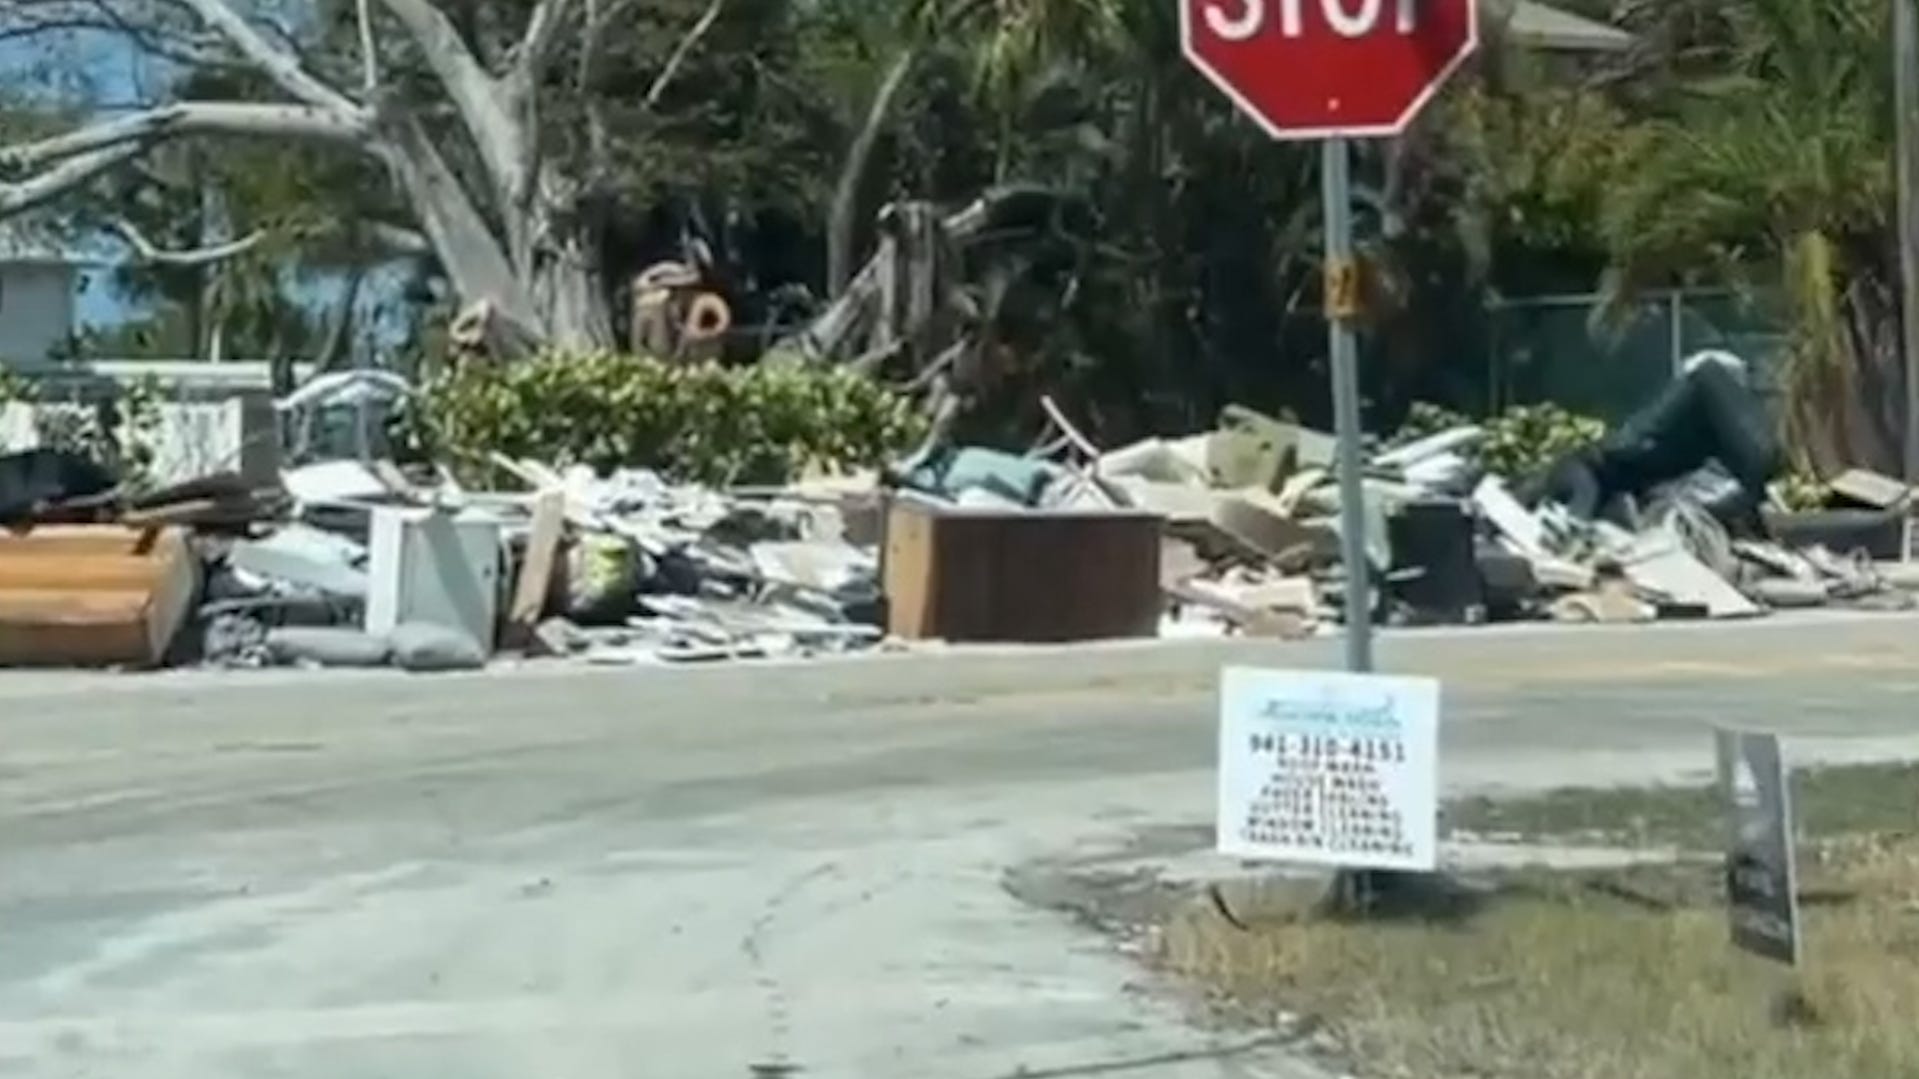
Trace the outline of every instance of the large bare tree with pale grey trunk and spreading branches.
<instances>
[{"instance_id":1,"label":"large bare tree with pale grey trunk and spreading branches","mask_svg":"<svg viewBox=\"0 0 1919 1079\"><path fill-rule=\"evenodd\" d=\"M177 88L130 111L0 148L0 217L79 194L154 148L205 136L309 140L376 163L453 292L501 340L603 346L608 290L583 205L597 161L555 152L551 115L585 100L608 33L645 0L10 0L0 36L107 33L177 71L230 69L263 92ZM656 73L670 84L712 29L712 0ZM578 106L580 102L572 102ZM568 109L572 115L572 109Z\"/></svg>"}]
</instances>

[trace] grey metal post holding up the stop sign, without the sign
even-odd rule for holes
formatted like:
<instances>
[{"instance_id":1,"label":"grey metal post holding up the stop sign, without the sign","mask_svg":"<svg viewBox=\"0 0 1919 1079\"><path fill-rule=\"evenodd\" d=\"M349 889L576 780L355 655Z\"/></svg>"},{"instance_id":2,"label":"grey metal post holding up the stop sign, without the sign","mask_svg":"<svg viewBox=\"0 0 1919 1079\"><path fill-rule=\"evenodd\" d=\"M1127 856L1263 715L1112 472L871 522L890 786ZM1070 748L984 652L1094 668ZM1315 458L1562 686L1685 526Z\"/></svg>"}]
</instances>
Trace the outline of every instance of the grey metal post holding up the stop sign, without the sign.
<instances>
[{"instance_id":1,"label":"grey metal post holding up the stop sign, without the sign","mask_svg":"<svg viewBox=\"0 0 1919 1079\"><path fill-rule=\"evenodd\" d=\"M1320 150L1326 215L1326 346L1332 357L1332 419L1339 440L1339 561L1345 564L1345 668L1372 670L1372 587L1366 563L1366 486L1361 476L1359 317L1361 280L1353 261L1353 159L1347 140Z\"/></svg>"}]
</instances>

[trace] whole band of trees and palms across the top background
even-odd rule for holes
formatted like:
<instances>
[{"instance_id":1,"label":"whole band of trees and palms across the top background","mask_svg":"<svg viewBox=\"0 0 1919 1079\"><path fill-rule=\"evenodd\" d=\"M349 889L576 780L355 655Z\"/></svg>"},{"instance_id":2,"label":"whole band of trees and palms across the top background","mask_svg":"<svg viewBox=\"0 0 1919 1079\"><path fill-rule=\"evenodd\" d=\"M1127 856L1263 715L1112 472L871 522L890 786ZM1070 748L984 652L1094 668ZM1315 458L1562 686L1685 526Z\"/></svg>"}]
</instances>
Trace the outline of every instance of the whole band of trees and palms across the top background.
<instances>
[{"instance_id":1,"label":"whole band of trees and palms across the top background","mask_svg":"<svg viewBox=\"0 0 1919 1079\"><path fill-rule=\"evenodd\" d=\"M1359 159L1374 411L1470 403L1493 294L1756 288L1787 298L1800 442L1883 461L1902 399L1886 0L1568 6L1635 48L1541 56L1491 33L1414 131ZM336 319L286 303L315 280L415 280L415 321L486 300L510 332L604 344L624 282L693 240L745 321L777 323L777 296L817 303L850 276L883 202L1038 180L1090 228L1031 313L1032 378L1115 434L1232 399L1324 415L1311 150L1267 142L1184 65L1167 0L0 12L6 38L75 27L157 75L132 108L96 108L100 86L15 108L0 215L121 236L127 288L200 349L215 324L248 349L332 349Z\"/></svg>"}]
</instances>

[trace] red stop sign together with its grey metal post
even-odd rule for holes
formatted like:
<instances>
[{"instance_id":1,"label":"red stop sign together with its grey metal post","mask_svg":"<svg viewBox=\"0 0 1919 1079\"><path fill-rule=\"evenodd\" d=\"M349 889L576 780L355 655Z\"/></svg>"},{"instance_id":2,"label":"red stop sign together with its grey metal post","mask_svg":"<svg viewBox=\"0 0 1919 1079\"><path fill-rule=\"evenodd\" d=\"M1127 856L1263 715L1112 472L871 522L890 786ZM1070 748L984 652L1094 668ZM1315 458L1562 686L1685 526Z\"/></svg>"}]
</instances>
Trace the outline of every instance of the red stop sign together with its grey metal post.
<instances>
[{"instance_id":1,"label":"red stop sign together with its grey metal post","mask_svg":"<svg viewBox=\"0 0 1919 1079\"><path fill-rule=\"evenodd\" d=\"M1353 138L1395 136L1480 44L1476 0L1178 0L1180 48L1272 138L1316 138L1324 200L1322 307L1332 365L1345 563L1345 664L1372 670L1361 480Z\"/></svg>"}]
</instances>

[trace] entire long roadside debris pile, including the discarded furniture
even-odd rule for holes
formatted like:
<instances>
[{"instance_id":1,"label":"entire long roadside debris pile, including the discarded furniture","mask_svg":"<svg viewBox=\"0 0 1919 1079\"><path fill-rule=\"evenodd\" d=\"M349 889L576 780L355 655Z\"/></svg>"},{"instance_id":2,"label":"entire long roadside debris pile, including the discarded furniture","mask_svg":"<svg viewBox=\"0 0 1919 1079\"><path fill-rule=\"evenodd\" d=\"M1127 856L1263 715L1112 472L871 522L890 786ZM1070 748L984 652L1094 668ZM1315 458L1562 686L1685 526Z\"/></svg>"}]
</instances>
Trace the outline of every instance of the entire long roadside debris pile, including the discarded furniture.
<instances>
[{"instance_id":1,"label":"entire long roadside debris pile, including the discarded furniture","mask_svg":"<svg viewBox=\"0 0 1919 1079\"><path fill-rule=\"evenodd\" d=\"M1702 353L1539 476L1462 424L1368 457L1347 612L1334 440L1245 407L1102 449L1042 399L1031 455L929 440L879 472L714 490L495 457L489 490L361 457L138 497L0 455L0 664L476 668L808 657L900 639L1303 637L1389 624L1906 609L1911 492L1787 513L1744 367Z\"/></svg>"}]
</instances>

